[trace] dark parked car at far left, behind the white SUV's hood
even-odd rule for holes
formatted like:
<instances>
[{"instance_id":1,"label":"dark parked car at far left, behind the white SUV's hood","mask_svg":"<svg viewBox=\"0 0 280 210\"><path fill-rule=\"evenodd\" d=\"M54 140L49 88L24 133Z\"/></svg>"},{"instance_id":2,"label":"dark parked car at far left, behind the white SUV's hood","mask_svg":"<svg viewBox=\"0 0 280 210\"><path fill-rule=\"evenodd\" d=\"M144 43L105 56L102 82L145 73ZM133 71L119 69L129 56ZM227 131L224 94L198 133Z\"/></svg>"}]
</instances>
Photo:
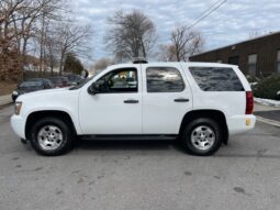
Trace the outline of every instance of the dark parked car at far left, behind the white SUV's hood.
<instances>
[{"instance_id":1,"label":"dark parked car at far left, behind the white SUV's hood","mask_svg":"<svg viewBox=\"0 0 280 210\"><path fill-rule=\"evenodd\" d=\"M51 89L54 88L54 85L51 80L45 78L33 78L26 81L23 81L18 86L18 88L12 92L12 100L23 93L33 92L36 90Z\"/></svg>"}]
</instances>

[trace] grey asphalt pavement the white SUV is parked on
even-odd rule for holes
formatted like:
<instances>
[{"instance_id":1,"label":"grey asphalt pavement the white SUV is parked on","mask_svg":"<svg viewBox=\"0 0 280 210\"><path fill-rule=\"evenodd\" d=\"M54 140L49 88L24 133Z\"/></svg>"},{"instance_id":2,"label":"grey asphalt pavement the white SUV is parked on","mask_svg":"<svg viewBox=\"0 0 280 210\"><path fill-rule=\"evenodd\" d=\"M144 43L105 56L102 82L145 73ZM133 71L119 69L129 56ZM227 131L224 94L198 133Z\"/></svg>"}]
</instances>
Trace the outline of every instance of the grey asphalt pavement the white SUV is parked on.
<instances>
[{"instance_id":1,"label":"grey asphalt pavement the white SUV is parked on","mask_svg":"<svg viewBox=\"0 0 280 210\"><path fill-rule=\"evenodd\" d=\"M212 157L171 142L81 142L38 156L0 110L0 209L279 209L280 129L257 123Z\"/></svg>"}]
</instances>

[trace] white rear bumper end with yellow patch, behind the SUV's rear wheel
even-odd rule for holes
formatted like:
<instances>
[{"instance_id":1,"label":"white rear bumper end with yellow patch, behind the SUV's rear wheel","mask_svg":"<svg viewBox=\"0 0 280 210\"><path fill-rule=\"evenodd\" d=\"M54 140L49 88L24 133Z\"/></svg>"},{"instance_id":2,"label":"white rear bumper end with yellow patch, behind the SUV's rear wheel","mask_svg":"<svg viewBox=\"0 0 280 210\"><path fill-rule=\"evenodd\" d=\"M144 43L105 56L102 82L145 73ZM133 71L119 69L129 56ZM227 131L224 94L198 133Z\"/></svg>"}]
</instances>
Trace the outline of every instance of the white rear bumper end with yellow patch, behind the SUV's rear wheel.
<instances>
[{"instance_id":1,"label":"white rear bumper end with yellow patch, behind the SUV's rear wheel","mask_svg":"<svg viewBox=\"0 0 280 210\"><path fill-rule=\"evenodd\" d=\"M234 115L227 119L229 135L245 133L255 128L256 117L253 114Z\"/></svg>"}]
</instances>

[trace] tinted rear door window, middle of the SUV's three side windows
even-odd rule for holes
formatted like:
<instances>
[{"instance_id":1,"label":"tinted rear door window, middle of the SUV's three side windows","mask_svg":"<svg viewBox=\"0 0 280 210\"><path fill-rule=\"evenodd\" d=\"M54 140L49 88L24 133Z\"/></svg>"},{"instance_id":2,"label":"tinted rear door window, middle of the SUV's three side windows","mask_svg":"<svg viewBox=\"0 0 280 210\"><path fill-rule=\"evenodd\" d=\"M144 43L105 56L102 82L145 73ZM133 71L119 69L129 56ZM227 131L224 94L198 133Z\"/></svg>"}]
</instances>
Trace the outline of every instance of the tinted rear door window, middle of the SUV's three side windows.
<instances>
[{"instance_id":1,"label":"tinted rear door window, middle of the SUV's three side windows","mask_svg":"<svg viewBox=\"0 0 280 210\"><path fill-rule=\"evenodd\" d=\"M180 92L184 89L182 77L176 68L149 67L146 75L148 92Z\"/></svg>"}]
</instances>

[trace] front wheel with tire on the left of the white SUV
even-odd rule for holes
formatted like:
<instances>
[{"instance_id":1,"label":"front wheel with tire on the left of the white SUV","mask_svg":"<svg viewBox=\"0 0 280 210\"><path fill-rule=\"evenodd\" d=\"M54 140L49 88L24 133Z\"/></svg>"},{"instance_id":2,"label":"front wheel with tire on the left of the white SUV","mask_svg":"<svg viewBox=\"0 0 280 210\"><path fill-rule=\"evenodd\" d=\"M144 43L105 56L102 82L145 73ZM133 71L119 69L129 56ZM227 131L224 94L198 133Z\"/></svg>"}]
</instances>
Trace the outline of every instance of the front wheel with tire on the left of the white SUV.
<instances>
[{"instance_id":1,"label":"front wheel with tire on the left of the white SUV","mask_svg":"<svg viewBox=\"0 0 280 210\"><path fill-rule=\"evenodd\" d=\"M68 152L74 142L74 132L65 121L44 118L31 129L31 145L41 155L57 156Z\"/></svg>"}]
</instances>

